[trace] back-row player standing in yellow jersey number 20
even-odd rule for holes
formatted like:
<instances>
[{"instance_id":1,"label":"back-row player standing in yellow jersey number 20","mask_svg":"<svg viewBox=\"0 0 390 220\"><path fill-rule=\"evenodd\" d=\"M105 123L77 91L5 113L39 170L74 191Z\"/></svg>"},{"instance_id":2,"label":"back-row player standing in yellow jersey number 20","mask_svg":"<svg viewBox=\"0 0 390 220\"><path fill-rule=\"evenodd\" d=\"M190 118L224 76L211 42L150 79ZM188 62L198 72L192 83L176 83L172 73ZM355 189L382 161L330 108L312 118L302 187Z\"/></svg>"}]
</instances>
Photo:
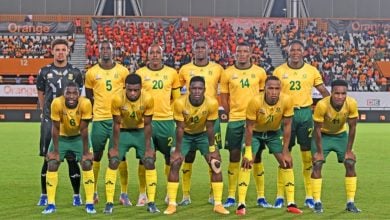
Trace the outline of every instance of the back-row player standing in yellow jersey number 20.
<instances>
[{"instance_id":1,"label":"back-row player standing in yellow jersey number 20","mask_svg":"<svg viewBox=\"0 0 390 220\"><path fill-rule=\"evenodd\" d=\"M171 107L171 97L175 100L180 97L180 82L175 69L163 65L163 50L157 44L148 48L148 65L138 69L137 74L142 78L142 88L152 95L154 102L152 138L154 147L165 157L165 175L169 173L169 156L175 144L175 122ZM140 180L140 195L137 206L146 203L145 195L145 167L138 168Z\"/></svg>"}]
</instances>

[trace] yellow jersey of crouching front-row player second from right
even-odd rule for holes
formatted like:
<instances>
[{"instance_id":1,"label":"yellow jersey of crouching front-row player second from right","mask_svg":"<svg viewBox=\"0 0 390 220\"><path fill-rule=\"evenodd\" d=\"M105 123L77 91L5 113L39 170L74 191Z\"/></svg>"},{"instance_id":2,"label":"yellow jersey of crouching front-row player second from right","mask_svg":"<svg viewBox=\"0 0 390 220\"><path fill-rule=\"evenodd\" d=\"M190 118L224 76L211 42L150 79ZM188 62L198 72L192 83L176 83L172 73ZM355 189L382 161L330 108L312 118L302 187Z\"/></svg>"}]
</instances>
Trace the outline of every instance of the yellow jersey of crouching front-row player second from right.
<instances>
[{"instance_id":1,"label":"yellow jersey of crouching front-row player second from right","mask_svg":"<svg viewBox=\"0 0 390 220\"><path fill-rule=\"evenodd\" d=\"M264 93L260 93L251 99L246 118L255 121L254 131L277 131L280 129L283 117L294 115L292 99L288 95L281 94L275 105L268 105L264 96Z\"/></svg>"}]
</instances>

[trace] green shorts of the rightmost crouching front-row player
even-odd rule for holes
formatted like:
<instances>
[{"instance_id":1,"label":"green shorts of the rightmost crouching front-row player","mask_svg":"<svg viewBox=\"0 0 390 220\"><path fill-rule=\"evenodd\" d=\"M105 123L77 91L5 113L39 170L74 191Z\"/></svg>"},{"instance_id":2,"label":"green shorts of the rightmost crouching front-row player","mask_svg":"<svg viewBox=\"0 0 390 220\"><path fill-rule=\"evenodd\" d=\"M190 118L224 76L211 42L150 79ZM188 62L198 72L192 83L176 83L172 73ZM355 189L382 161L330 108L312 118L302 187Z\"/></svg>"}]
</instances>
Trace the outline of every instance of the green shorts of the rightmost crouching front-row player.
<instances>
[{"instance_id":1,"label":"green shorts of the rightmost crouching front-row player","mask_svg":"<svg viewBox=\"0 0 390 220\"><path fill-rule=\"evenodd\" d=\"M339 163L344 162L345 152L347 151L348 144L348 134L347 132L342 132L340 134L324 134L321 133L322 136L322 153L324 155L324 160L329 155L331 151L336 152L337 160ZM317 152L317 145L315 143L315 139L313 138L311 145L311 153Z\"/></svg>"}]
</instances>

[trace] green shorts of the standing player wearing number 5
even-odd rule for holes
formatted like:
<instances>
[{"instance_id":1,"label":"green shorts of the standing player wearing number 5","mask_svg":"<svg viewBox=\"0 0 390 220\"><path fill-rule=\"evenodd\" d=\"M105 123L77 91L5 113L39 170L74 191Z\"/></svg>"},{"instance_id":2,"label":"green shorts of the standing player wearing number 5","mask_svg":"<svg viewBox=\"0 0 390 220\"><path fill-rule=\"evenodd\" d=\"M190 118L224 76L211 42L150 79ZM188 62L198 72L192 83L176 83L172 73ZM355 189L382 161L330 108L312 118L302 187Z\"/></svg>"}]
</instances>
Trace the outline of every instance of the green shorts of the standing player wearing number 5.
<instances>
[{"instance_id":1,"label":"green shorts of the standing player wearing number 5","mask_svg":"<svg viewBox=\"0 0 390 220\"><path fill-rule=\"evenodd\" d=\"M107 140L112 135L112 119L92 122L91 143L93 152L104 151Z\"/></svg>"}]
</instances>

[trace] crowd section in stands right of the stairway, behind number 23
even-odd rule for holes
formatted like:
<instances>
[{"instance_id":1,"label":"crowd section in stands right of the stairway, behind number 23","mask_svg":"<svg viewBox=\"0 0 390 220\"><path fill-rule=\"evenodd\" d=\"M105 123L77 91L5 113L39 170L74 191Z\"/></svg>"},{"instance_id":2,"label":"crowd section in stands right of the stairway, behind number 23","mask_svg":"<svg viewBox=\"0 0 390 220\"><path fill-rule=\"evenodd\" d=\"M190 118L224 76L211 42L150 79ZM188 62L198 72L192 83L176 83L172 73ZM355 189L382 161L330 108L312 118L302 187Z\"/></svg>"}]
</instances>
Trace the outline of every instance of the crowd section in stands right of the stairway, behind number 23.
<instances>
[{"instance_id":1,"label":"crowd section in stands right of the stairway, behind number 23","mask_svg":"<svg viewBox=\"0 0 390 220\"><path fill-rule=\"evenodd\" d=\"M315 20L301 29L287 26L276 36L284 57L292 39L306 45L305 62L318 68L327 86L334 79L344 79L352 91L387 90L387 79L374 62L390 61L390 32L330 33L318 29Z\"/></svg>"}]
</instances>

